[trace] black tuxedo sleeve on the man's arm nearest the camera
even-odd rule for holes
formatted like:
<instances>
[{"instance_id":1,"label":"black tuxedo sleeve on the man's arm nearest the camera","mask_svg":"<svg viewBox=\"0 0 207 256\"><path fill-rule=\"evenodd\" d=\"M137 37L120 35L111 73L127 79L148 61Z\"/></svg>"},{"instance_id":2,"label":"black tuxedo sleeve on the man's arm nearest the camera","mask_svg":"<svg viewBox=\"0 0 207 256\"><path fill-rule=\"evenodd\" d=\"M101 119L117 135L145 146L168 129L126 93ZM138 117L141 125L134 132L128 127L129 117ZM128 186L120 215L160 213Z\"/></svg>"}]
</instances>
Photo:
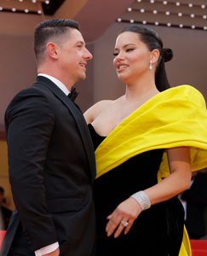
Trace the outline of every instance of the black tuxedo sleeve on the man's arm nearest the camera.
<instances>
[{"instance_id":1,"label":"black tuxedo sleeve on the man's arm nearest the camera","mask_svg":"<svg viewBox=\"0 0 207 256\"><path fill-rule=\"evenodd\" d=\"M5 124L14 204L31 239L31 250L35 251L58 241L46 204L43 178L55 124L49 99L35 88L21 91L9 104Z\"/></svg>"}]
</instances>

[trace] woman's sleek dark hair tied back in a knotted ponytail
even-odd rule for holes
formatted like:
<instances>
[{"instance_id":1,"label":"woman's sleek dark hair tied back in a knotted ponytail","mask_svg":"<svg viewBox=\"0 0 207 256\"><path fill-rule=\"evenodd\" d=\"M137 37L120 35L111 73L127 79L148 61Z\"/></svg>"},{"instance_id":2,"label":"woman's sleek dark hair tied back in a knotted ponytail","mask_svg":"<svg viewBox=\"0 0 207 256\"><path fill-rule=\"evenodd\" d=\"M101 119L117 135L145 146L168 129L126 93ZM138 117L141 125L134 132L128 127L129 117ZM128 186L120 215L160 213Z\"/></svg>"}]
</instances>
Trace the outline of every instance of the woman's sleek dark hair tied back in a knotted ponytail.
<instances>
[{"instance_id":1,"label":"woman's sleek dark hair tied back in a knotted ponytail","mask_svg":"<svg viewBox=\"0 0 207 256\"><path fill-rule=\"evenodd\" d=\"M141 42L146 44L149 51L152 51L153 49L158 49L159 58L158 66L155 72L155 84L159 91L169 89L170 84L167 79L164 62L170 61L173 58L173 51L169 48L163 49L163 42L161 38L159 38L158 33L147 26L126 26L124 30L120 32L120 34L123 32L138 33Z\"/></svg>"}]
</instances>

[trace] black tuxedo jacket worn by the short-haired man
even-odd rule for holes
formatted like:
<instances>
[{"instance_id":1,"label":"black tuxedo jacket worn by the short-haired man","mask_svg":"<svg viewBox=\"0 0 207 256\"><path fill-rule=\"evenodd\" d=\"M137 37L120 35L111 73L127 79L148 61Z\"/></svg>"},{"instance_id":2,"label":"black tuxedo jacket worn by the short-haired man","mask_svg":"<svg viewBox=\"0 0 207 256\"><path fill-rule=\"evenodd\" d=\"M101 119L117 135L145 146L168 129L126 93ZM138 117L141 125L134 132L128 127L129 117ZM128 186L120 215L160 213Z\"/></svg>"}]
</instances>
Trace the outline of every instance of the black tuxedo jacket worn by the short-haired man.
<instances>
[{"instance_id":1,"label":"black tuxedo jacket worn by the short-haired man","mask_svg":"<svg viewBox=\"0 0 207 256\"><path fill-rule=\"evenodd\" d=\"M83 114L38 76L5 113L14 211L6 256L21 222L31 251L59 241L60 255L90 255L95 241L94 148Z\"/></svg>"}]
</instances>

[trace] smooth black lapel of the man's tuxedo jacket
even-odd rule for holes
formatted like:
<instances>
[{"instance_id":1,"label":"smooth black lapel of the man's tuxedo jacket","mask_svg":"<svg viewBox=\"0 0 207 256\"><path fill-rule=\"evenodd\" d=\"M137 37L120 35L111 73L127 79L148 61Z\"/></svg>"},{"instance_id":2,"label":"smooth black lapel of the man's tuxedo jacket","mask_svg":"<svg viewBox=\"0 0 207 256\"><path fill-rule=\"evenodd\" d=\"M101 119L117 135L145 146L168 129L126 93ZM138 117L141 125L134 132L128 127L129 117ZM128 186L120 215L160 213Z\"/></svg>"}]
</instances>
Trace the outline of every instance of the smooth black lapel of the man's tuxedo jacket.
<instances>
[{"instance_id":1,"label":"smooth black lapel of the man's tuxedo jacket","mask_svg":"<svg viewBox=\"0 0 207 256\"><path fill-rule=\"evenodd\" d=\"M94 148L92 146L92 141L89 136L89 130L87 128L85 119L83 118L83 114L80 113L78 108L72 103L72 101L69 99L66 94L60 90L60 88L54 84L51 80L42 77L42 76L37 76L37 79L34 83L35 84L43 84L46 86L49 90L51 90L55 96L57 96L61 102L63 102L66 107L70 110L72 113L73 118L75 119L77 125L78 125L78 130L80 132L82 141L83 141L83 146L85 148L86 154L88 156L89 160L89 167L90 167L90 172L91 172L91 177L92 180L95 179L95 155L94 155Z\"/></svg>"}]
</instances>

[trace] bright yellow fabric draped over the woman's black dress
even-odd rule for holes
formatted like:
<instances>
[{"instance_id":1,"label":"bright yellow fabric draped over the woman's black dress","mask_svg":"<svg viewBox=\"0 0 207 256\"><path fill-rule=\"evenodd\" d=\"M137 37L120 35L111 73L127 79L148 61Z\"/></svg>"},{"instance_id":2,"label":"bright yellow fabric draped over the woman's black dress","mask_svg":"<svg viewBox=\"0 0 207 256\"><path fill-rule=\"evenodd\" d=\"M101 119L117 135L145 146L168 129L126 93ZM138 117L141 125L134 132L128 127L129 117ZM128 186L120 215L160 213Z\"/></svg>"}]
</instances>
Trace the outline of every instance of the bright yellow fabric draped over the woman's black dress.
<instances>
[{"instance_id":1,"label":"bright yellow fabric draped over the woman's black dress","mask_svg":"<svg viewBox=\"0 0 207 256\"><path fill-rule=\"evenodd\" d=\"M207 111L202 94L190 85L164 90L124 119L95 151L97 176L156 148L190 147L192 171L207 166ZM170 174L164 153L158 181ZM180 256L191 256L184 230Z\"/></svg>"}]
</instances>

